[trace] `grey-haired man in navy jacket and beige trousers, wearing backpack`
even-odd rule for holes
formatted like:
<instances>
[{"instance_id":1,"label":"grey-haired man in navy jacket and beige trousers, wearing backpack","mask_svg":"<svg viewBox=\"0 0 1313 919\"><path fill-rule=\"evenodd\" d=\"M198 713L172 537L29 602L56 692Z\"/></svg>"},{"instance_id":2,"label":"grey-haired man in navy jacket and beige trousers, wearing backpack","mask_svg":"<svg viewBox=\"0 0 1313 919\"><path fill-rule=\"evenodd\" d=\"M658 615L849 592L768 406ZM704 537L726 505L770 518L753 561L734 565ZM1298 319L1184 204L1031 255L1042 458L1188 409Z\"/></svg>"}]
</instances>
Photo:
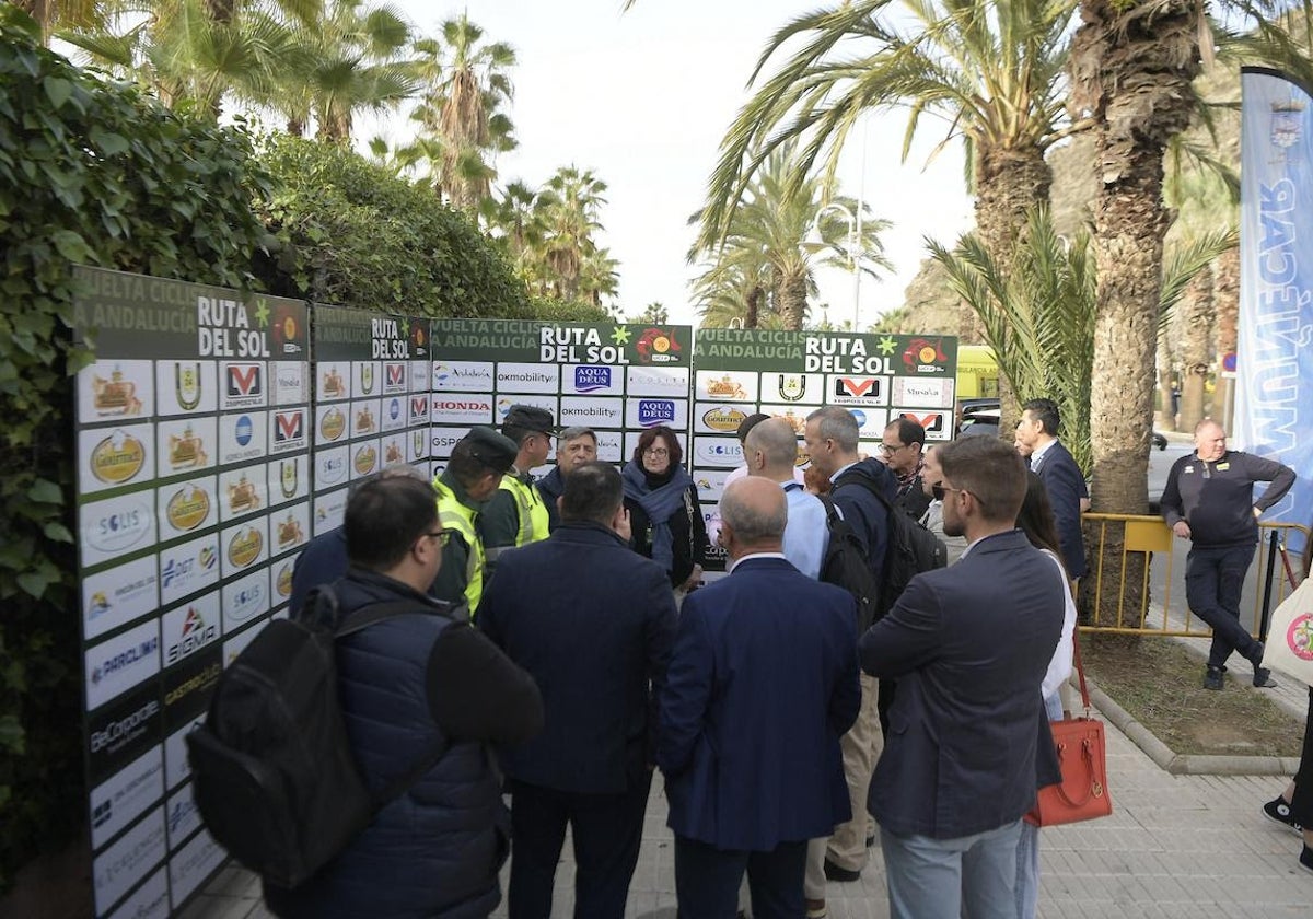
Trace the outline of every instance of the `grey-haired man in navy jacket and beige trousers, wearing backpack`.
<instances>
[{"instance_id":1,"label":"grey-haired man in navy jacket and beige trousers, wearing backpack","mask_svg":"<svg viewBox=\"0 0 1313 919\"><path fill-rule=\"evenodd\" d=\"M889 507L897 488L884 463L857 456L857 419L852 412L826 406L807 415L806 445L811 465L834 486L831 499L865 550L874 583L882 586L890 532ZM839 826L830 838L825 873L831 881L856 881L869 857L867 789L884 746L877 698L876 680L863 673L861 712L840 742L852 819Z\"/></svg>"}]
</instances>

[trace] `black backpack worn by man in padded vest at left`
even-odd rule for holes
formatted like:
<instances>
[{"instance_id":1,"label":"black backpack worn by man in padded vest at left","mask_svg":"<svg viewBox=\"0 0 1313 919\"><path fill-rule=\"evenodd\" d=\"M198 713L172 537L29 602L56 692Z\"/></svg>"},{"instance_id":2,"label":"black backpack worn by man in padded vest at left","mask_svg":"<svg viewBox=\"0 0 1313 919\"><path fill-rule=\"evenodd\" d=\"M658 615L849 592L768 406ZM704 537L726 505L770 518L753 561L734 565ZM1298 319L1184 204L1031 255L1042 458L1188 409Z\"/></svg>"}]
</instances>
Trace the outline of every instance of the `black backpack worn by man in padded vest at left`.
<instances>
[{"instance_id":1,"label":"black backpack worn by man in padded vest at left","mask_svg":"<svg viewBox=\"0 0 1313 919\"><path fill-rule=\"evenodd\" d=\"M339 622L337 597L324 586L305 610L302 621L274 620L260 630L219 676L205 723L186 735L205 827L280 887L307 881L445 752L372 796L339 702L334 642L418 613L416 603L372 604Z\"/></svg>"}]
</instances>

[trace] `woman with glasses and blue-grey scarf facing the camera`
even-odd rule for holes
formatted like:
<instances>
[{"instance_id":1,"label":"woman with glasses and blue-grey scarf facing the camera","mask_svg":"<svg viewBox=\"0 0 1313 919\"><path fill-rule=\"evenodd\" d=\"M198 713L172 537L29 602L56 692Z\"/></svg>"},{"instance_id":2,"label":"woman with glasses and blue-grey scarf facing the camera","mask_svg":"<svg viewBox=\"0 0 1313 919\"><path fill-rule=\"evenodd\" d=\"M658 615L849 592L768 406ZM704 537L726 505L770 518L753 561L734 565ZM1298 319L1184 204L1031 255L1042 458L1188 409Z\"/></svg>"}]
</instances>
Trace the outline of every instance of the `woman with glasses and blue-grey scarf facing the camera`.
<instances>
[{"instance_id":1,"label":"woman with glasses and blue-grey scarf facing the camera","mask_svg":"<svg viewBox=\"0 0 1313 919\"><path fill-rule=\"evenodd\" d=\"M683 460L675 432L662 424L642 433L621 473L634 551L662 565L680 597L702 579L708 547L697 486Z\"/></svg>"}]
</instances>

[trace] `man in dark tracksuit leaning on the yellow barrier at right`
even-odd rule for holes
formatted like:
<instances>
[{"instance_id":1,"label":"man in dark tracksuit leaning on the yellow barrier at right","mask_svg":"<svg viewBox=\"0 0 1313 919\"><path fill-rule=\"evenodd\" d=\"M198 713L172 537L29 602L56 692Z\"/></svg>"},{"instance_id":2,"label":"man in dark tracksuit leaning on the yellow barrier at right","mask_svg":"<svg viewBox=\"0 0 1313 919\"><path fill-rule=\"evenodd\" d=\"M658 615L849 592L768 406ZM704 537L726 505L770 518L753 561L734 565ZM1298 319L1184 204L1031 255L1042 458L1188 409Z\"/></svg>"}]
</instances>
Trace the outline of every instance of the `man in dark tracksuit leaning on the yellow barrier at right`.
<instances>
[{"instance_id":1,"label":"man in dark tracksuit leaning on the yellow barrier at right","mask_svg":"<svg viewBox=\"0 0 1313 919\"><path fill-rule=\"evenodd\" d=\"M1254 483L1271 482L1254 500ZM1162 519L1182 540L1186 600L1213 629L1205 689L1221 689L1226 658L1239 651L1254 664L1254 685L1275 685L1259 664L1263 645L1239 624L1239 595L1254 561L1258 519L1295 484L1295 470L1272 460L1226 449L1226 432L1213 420L1195 428L1195 453L1178 460L1162 492Z\"/></svg>"}]
</instances>

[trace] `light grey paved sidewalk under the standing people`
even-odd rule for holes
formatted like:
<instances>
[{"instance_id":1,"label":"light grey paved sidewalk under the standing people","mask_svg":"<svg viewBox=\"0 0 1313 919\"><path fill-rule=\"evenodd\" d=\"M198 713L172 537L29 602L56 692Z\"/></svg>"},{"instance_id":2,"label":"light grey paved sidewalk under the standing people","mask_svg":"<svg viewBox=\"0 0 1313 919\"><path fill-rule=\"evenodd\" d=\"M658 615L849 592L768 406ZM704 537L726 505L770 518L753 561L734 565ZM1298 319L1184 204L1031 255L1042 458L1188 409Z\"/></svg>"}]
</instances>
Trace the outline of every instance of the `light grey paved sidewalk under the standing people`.
<instances>
[{"instance_id":1,"label":"light grey paved sidewalk under the standing people","mask_svg":"<svg viewBox=\"0 0 1313 919\"><path fill-rule=\"evenodd\" d=\"M1285 779L1170 776L1111 726L1108 746L1113 815L1043 834L1043 919L1293 919L1313 914L1313 874L1297 865L1299 836L1259 810L1280 793ZM554 916L572 915L571 872L567 843ZM885 919L880 849L872 851L860 881L831 884L829 898L834 919ZM256 878L228 868L181 915L264 919L269 914L260 903ZM504 916L506 905L494 915ZM653 782L626 915L675 916L674 847L659 777Z\"/></svg>"}]
</instances>

